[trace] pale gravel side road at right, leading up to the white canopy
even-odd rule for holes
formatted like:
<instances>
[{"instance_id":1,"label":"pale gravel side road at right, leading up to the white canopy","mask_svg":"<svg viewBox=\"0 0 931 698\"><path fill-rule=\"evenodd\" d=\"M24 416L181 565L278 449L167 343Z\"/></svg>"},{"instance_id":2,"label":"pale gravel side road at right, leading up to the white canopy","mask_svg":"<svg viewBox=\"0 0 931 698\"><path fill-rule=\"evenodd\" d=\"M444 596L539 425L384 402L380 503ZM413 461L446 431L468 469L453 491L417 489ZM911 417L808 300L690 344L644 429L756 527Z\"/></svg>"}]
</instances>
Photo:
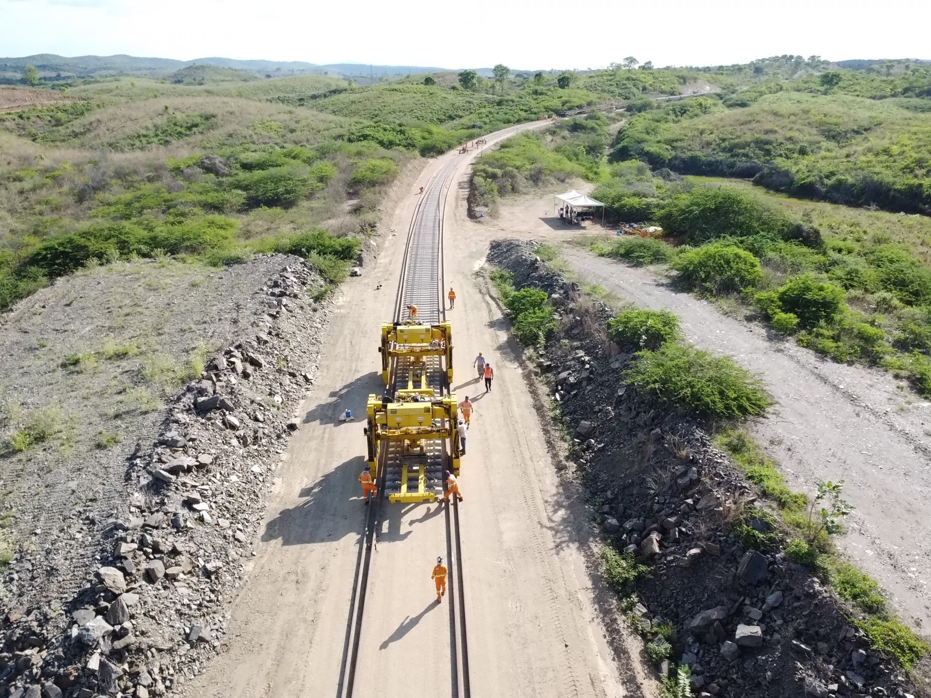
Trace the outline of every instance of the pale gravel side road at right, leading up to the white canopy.
<instances>
[{"instance_id":1,"label":"pale gravel side road at right, leading up to the white canopy","mask_svg":"<svg viewBox=\"0 0 931 698\"><path fill-rule=\"evenodd\" d=\"M819 480L844 480L844 497L857 510L843 549L879 580L903 618L931 627L931 405L888 373L834 363L722 315L712 303L671 289L656 270L590 254L571 243L605 231L563 226L552 211L549 195L514 200L499 218L483 219L479 235L550 242L581 283L668 309L680 316L690 342L762 375L776 408L752 424L756 438L795 490L810 493Z\"/></svg>"}]
</instances>

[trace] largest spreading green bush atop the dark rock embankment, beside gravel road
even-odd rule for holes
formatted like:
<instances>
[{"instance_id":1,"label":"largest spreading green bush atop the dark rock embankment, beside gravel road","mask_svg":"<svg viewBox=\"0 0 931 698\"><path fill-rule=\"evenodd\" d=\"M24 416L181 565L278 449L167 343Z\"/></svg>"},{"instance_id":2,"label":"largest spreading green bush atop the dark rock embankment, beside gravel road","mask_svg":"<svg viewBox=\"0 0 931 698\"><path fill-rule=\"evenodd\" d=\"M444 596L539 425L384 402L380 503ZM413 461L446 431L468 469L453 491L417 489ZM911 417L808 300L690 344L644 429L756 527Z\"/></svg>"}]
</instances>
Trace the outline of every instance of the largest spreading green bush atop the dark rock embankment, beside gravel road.
<instances>
[{"instance_id":1,"label":"largest spreading green bush atop the dark rock embankment, beside gravel road","mask_svg":"<svg viewBox=\"0 0 931 698\"><path fill-rule=\"evenodd\" d=\"M762 381L729 356L667 342L642 351L624 372L641 390L701 417L762 414L772 405Z\"/></svg>"}]
</instances>

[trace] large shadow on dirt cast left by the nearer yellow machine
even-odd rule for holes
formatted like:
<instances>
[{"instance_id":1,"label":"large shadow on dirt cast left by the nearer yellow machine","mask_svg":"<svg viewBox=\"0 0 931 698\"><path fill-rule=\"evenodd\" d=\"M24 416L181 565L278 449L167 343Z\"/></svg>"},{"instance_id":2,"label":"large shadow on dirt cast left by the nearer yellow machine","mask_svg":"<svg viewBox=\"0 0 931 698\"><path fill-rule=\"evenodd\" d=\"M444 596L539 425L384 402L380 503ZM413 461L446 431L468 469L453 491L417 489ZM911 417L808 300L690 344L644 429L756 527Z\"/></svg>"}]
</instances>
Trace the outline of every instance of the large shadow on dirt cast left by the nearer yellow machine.
<instances>
[{"instance_id":1,"label":"large shadow on dirt cast left by the nearer yellow machine","mask_svg":"<svg viewBox=\"0 0 931 698\"><path fill-rule=\"evenodd\" d=\"M365 456L354 456L305 485L298 494L301 501L278 512L265 526L263 542L308 545L360 536L366 506L359 497L358 474L364 467Z\"/></svg>"}]
</instances>

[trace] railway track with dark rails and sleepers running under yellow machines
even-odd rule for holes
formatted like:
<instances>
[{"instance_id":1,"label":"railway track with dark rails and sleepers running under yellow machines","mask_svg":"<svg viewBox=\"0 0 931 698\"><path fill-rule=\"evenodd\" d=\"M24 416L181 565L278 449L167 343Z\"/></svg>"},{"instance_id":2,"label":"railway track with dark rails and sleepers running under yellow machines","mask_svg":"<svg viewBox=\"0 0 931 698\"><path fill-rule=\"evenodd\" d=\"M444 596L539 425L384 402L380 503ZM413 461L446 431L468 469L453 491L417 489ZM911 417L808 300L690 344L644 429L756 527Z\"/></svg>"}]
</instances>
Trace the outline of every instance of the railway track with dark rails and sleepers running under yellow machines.
<instances>
[{"instance_id":1,"label":"railway track with dark rails and sleepers running under yellow machines","mask_svg":"<svg viewBox=\"0 0 931 698\"><path fill-rule=\"evenodd\" d=\"M422 324L436 325L446 320L446 302L443 295L445 289L443 209L457 164L458 158L453 156L440 169L439 173L427 183L424 194L414 210L395 299L394 321L396 323L405 318L406 309L412 304L417 306L417 320ZM411 368L409 361L410 359L406 357L394 359L387 387L391 396L399 389L407 387ZM434 398L439 399L449 392L447 371L439 356L427 356L424 363L427 383L433 388ZM367 507L365 525L360 535L336 698L352 698L357 688L356 669L361 651L371 554L378 544L378 531L382 522L382 507L385 500L390 492L399 491L401 487L404 458L400 442L389 444L380 456L377 470L379 498ZM444 441L431 442L426 452L427 484L439 496L442 495L445 463L450 458ZM452 467L445 469L452 469ZM454 500L455 498L452 497L451 503L444 506L448 568L447 607L450 623L450 689L452 698L471 698L459 505ZM358 695L362 693L359 692Z\"/></svg>"}]
</instances>

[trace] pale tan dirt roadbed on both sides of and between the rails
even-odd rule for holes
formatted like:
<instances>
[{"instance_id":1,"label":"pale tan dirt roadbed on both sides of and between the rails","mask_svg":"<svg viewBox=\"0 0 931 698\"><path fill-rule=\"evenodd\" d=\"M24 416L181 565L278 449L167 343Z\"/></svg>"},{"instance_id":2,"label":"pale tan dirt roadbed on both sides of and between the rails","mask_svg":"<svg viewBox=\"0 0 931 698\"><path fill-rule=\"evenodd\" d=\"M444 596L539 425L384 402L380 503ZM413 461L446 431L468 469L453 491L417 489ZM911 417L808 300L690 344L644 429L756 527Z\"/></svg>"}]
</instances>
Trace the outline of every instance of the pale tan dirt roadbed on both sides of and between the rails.
<instances>
[{"instance_id":1,"label":"pale tan dirt roadbed on both sides of and between the rails","mask_svg":"<svg viewBox=\"0 0 931 698\"><path fill-rule=\"evenodd\" d=\"M460 477L472 694L643 694L636 663L618 670L592 601L584 559L590 512L564 495L503 321L477 286L474 270L487 244L468 235L462 182L471 156L449 154L425 169L394 212L398 232L376 265L339 291L303 425L278 469L257 556L231 609L227 649L187 685L190 695L337 693L364 519L357 477L365 453L362 424L337 416L346 408L364 414L367 396L381 393L377 338L392 316L414 192L450 157L462 162L445 232L446 281L458 294L448 314L453 386L476 406ZM479 350L495 369L487 395L470 368ZM435 558L445 555L443 516L437 504L384 507L355 694L448 695L449 615L430 580Z\"/></svg>"}]
</instances>

